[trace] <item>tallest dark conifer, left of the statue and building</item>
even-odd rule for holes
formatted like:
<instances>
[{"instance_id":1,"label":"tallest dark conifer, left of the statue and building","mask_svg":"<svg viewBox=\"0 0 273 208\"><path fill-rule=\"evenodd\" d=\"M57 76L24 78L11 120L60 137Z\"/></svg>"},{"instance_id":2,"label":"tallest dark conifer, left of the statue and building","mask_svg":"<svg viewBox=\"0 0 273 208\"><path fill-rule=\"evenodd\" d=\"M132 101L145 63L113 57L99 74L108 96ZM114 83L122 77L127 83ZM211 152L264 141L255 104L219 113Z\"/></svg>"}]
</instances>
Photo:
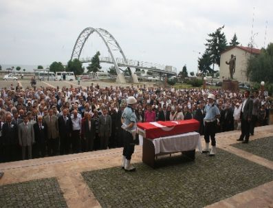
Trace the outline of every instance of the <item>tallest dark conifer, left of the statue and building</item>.
<instances>
[{"instance_id":1,"label":"tallest dark conifer, left of the statue and building","mask_svg":"<svg viewBox=\"0 0 273 208\"><path fill-rule=\"evenodd\" d=\"M208 34L208 37L210 37L210 39L206 39L206 51L210 55L212 70L215 69L215 64L220 66L221 52L223 52L227 48L226 35L221 31L224 26L225 25L223 25L221 28L218 28L215 32Z\"/></svg>"}]
</instances>

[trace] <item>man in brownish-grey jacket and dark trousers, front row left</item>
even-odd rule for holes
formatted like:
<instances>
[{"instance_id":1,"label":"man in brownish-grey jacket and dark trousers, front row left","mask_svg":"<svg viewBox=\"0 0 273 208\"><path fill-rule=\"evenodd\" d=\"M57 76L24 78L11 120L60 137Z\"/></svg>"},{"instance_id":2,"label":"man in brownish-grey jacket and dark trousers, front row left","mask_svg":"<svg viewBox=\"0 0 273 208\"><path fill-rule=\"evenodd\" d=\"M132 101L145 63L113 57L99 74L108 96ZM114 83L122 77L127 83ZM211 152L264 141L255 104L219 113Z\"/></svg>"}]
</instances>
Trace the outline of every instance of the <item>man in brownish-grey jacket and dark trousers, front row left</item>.
<instances>
[{"instance_id":1,"label":"man in brownish-grey jacket and dark trousers, front row left","mask_svg":"<svg viewBox=\"0 0 273 208\"><path fill-rule=\"evenodd\" d=\"M53 108L50 108L43 119L47 125L47 152L49 156L55 156L58 152L58 117L54 115Z\"/></svg>"}]
</instances>

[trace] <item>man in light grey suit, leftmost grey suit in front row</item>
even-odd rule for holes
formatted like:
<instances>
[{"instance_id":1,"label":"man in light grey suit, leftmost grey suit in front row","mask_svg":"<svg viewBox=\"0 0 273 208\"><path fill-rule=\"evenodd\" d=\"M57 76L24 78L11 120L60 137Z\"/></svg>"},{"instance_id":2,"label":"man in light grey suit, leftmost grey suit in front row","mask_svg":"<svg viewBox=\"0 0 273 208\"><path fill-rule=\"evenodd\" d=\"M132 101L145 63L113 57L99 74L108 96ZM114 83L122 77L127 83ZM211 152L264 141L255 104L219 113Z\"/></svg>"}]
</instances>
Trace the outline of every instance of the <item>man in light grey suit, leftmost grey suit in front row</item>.
<instances>
[{"instance_id":1,"label":"man in light grey suit, leftmost grey suit in front row","mask_svg":"<svg viewBox=\"0 0 273 208\"><path fill-rule=\"evenodd\" d=\"M28 121L28 116L23 116L23 123L18 128L19 145L22 147L22 159L25 160L25 149L28 149L28 159L32 158L32 145L35 142L33 125Z\"/></svg>"}]
</instances>

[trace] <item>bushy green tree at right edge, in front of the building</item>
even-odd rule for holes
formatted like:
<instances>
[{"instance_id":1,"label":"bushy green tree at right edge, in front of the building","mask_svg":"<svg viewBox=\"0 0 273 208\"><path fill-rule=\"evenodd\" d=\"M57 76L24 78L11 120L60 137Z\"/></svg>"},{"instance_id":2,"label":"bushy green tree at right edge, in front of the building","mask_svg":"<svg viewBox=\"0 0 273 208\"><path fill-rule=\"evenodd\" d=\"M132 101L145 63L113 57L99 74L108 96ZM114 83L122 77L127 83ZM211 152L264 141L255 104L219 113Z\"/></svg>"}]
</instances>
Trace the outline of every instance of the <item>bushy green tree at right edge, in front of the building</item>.
<instances>
[{"instance_id":1,"label":"bushy green tree at right edge, in front of the building","mask_svg":"<svg viewBox=\"0 0 273 208\"><path fill-rule=\"evenodd\" d=\"M273 43L267 45L266 50L261 50L261 54L250 56L246 75L253 82L273 83Z\"/></svg>"}]
</instances>

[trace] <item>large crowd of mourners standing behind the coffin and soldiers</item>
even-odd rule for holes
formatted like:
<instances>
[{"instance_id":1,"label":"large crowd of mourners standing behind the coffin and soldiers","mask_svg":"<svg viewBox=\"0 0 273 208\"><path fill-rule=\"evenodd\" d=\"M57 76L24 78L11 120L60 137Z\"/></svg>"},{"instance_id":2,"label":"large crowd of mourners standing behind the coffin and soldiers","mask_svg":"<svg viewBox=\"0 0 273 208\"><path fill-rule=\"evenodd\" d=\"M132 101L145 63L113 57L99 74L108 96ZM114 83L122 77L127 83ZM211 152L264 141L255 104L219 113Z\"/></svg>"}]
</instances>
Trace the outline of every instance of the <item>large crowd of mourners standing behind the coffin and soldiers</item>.
<instances>
[{"instance_id":1,"label":"large crowd of mourners standing behind the coffin and soldiers","mask_svg":"<svg viewBox=\"0 0 273 208\"><path fill-rule=\"evenodd\" d=\"M204 134L204 106L215 96L217 132L240 129L244 94L173 87L1 87L0 160L8 162L124 146L121 117L127 98L136 100L137 122L195 118ZM267 125L272 104L261 92L253 101L250 134ZM129 159L129 158L127 158Z\"/></svg>"}]
</instances>

